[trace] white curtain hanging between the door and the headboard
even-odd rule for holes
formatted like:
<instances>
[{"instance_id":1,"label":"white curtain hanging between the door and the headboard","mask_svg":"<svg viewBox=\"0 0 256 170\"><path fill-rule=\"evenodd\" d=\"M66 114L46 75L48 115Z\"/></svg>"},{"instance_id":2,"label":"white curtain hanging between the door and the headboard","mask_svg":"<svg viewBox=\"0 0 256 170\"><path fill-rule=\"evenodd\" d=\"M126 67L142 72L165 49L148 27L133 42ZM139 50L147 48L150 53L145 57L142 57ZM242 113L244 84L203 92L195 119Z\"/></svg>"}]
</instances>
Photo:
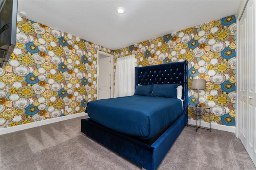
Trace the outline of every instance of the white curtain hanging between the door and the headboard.
<instances>
[{"instance_id":1,"label":"white curtain hanging between the door and the headboard","mask_svg":"<svg viewBox=\"0 0 256 170\"><path fill-rule=\"evenodd\" d=\"M134 54L116 59L114 97L131 96L134 94L134 68Z\"/></svg>"}]
</instances>

